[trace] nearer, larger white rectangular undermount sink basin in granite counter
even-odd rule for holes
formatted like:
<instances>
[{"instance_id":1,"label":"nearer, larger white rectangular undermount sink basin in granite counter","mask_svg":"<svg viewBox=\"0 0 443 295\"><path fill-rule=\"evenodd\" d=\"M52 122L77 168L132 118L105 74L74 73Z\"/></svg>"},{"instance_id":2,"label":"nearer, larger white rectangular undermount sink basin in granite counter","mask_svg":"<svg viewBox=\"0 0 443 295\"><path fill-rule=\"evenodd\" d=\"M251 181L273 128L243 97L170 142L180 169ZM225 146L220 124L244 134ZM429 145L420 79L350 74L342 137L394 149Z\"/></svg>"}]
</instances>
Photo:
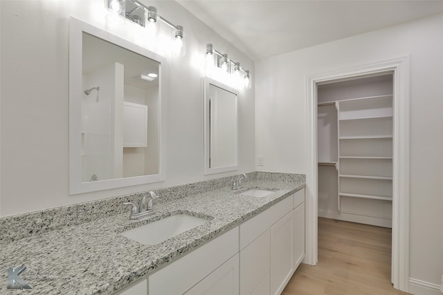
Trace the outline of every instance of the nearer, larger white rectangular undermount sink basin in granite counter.
<instances>
[{"instance_id":1,"label":"nearer, larger white rectangular undermount sink basin in granite counter","mask_svg":"<svg viewBox=\"0 0 443 295\"><path fill-rule=\"evenodd\" d=\"M121 235L145 245L156 245L208 221L187 214L177 214L123 231Z\"/></svg>"}]
</instances>

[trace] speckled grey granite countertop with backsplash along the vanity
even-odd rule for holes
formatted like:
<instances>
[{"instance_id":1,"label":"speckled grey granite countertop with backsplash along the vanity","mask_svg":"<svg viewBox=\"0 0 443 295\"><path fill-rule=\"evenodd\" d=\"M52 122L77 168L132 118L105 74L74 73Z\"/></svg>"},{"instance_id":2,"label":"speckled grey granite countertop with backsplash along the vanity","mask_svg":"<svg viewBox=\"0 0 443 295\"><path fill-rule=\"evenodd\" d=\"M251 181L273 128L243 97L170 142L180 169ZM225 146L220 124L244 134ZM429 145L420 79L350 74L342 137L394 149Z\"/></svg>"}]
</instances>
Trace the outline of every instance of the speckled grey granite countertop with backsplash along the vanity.
<instances>
[{"instance_id":1,"label":"speckled grey granite countertop with backsplash along the vanity","mask_svg":"<svg viewBox=\"0 0 443 295\"><path fill-rule=\"evenodd\" d=\"M3 235L0 240L0 265L3 269L0 294L112 294L305 186L304 175L254 172L248 173L248 177L240 191L230 189L232 177L160 189L156 193L165 196L154 205L156 214L143 220L129 221L127 208L123 209L125 213L121 213L120 209L112 211L113 204L117 206L123 200L136 200L140 195L60 207L49 210L49 213L35 212L15 219L13 216L0 218ZM278 191L264 198L239 194L248 188ZM88 218L87 213L91 213L94 206L100 208L96 209L100 211L99 217ZM75 212L81 209L87 213ZM72 212L67 213L69 218L57 220L60 217L57 210L64 214ZM119 234L177 213L210 220L153 246L142 245ZM53 216L53 219L45 219L48 216ZM45 227L29 225L38 218L42 218L41 223ZM66 224L66 220L71 223ZM18 240L15 240L19 236L16 235L12 241L8 237L14 235L6 229L9 228L7 225L15 222L17 225L12 225L12 229L19 228L22 222L21 225L27 225L27 230L33 230L33 227L41 230ZM7 289L7 270L21 265L27 268L20 277L33 289L26 292Z\"/></svg>"}]
</instances>

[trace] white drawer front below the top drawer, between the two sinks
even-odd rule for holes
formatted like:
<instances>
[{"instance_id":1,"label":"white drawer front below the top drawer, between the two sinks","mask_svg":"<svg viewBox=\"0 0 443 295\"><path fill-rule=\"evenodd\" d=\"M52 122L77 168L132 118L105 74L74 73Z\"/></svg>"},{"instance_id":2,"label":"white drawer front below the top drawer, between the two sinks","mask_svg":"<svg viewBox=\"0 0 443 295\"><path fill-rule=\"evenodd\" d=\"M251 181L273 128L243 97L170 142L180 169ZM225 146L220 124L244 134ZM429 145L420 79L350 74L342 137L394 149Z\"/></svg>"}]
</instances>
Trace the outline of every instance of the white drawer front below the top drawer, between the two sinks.
<instances>
[{"instance_id":1,"label":"white drawer front below the top drawer, between the two sinks","mask_svg":"<svg viewBox=\"0 0 443 295\"><path fill-rule=\"evenodd\" d=\"M242 295L251 294L269 273L269 233L268 229L240 251L240 294ZM269 294L269 287L267 293Z\"/></svg>"}]
</instances>

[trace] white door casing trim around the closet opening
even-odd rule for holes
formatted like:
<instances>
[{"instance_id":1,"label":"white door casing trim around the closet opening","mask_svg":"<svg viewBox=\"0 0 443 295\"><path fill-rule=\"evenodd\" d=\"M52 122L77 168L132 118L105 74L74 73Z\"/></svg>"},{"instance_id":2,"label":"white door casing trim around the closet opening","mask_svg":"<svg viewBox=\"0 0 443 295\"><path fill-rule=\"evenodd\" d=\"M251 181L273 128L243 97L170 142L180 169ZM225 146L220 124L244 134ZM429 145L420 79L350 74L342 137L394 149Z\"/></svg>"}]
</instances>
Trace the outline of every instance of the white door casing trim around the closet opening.
<instances>
[{"instance_id":1,"label":"white door casing trim around the closet opening","mask_svg":"<svg viewBox=\"0 0 443 295\"><path fill-rule=\"evenodd\" d=\"M330 73L316 74L307 76L307 170L306 170L306 256L305 263L309 265L316 265L318 260L318 245L317 245L317 234L318 234L318 142L317 142L317 91L318 86L322 84L332 83L332 82L345 82L352 79L361 79L369 77L378 77L383 75L391 75L392 77L392 210L387 210L383 212L382 217L386 217L388 211L392 214L392 276L391 281L395 289L400 289L401 291L408 292L409 289L409 61L408 57L392 59L388 61L382 61L376 64L367 64L364 66L356 66L353 68L345 68L342 70L335 70ZM377 96L377 95L376 95ZM338 106L340 108L340 106ZM337 113L337 116L339 114ZM365 126L362 126L365 127ZM337 129L338 131L340 129ZM357 128L356 124L350 124L347 128L347 135L345 136L359 136L352 135L349 132L354 132L360 130ZM337 131L337 141L338 141L338 131ZM363 135L361 135L363 136ZM369 136L369 135L368 135ZM375 135L374 135L375 136ZM381 135L377 135L381 137ZM387 137L388 135L386 135ZM389 135L390 136L390 135ZM363 138L343 138L343 140L357 140L363 142ZM389 149L386 142L387 138L380 139L379 142L384 142L383 150ZM342 157L359 157L359 155L352 155L350 152L353 149L348 149L347 146L338 147L337 144L337 162L339 149L344 149ZM365 149L365 147L361 147ZM366 149L367 152L372 152L372 148ZM360 151L360 149L359 149ZM363 150L362 150L363 151ZM366 153L366 152L365 152ZM346 155L345 155L346 154ZM374 155L375 157L376 155ZM364 157L364 156L362 156ZM366 156L369 157L369 156ZM377 155L377 157L386 157L386 159L377 160L388 160L387 155ZM351 158L343 158L345 161L350 162ZM361 159L369 160L369 159ZM326 161L325 161L326 162ZM333 161L331 161L333 162ZM331 164L332 165L332 164ZM357 167L359 165L347 163L346 169L352 168L352 166ZM329 167L335 169L333 166ZM349 173L350 171L347 171ZM355 173L366 173L364 175L369 175L368 172L372 171L353 171ZM348 174L345 174L348 175ZM381 175L389 178L388 175ZM346 177L344 177L346 178ZM350 177L347 177L350 178ZM345 191L344 193L349 193L353 195L363 195L363 196L373 196L373 197L383 197L383 202L388 202L389 182L388 179L380 187L377 187L379 191L357 191L359 187L365 187L369 189L371 185L366 182L366 184L361 184L362 180L358 179L356 181L347 179L345 182L339 182L338 178L336 180L337 194L339 191L339 186L342 186ZM365 180L363 180L365 181ZM379 180L377 180L379 181ZM380 180L381 181L381 180ZM370 194L374 193L374 194ZM320 196L321 197L321 196ZM322 197L323 198L323 197ZM358 196L343 196L340 198L356 199ZM376 199L374 199L376 200ZM341 202L343 200L340 200ZM337 200L334 202L335 206L345 211L351 211L354 208L353 201L346 201L349 204L344 204L344 207L338 207L338 196ZM331 204L332 206L332 204ZM386 208L385 208L386 209ZM355 212L354 212L355 213ZM337 213L338 214L338 213ZM343 213L342 213L343 215ZM356 215L356 214L354 214ZM380 216L379 216L380 217ZM368 219L368 218L366 218ZM386 220L387 218L378 218L379 220Z\"/></svg>"}]
</instances>

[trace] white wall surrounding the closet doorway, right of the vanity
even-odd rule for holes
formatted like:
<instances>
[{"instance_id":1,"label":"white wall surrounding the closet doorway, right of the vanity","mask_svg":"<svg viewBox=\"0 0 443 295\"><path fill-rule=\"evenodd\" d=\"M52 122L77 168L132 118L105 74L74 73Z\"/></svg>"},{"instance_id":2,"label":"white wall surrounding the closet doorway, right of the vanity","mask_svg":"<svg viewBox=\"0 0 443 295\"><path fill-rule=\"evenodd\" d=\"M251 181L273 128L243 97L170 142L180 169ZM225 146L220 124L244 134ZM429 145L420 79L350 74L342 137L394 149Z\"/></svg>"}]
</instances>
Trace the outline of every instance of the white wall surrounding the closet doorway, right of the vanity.
<instances>
[{"instance_id":1,"label":"white wall surrounding the closet doorway, right of the vanity","mask_svg":"<svg viewBox=\"0 0 443 295\"><path fill-rule=\"evenodd\" d=\"M305 77L410 57L410 277L443 273L443 15L257 61L257 170L307 169Z\"/></svg>"}]
</instances>

